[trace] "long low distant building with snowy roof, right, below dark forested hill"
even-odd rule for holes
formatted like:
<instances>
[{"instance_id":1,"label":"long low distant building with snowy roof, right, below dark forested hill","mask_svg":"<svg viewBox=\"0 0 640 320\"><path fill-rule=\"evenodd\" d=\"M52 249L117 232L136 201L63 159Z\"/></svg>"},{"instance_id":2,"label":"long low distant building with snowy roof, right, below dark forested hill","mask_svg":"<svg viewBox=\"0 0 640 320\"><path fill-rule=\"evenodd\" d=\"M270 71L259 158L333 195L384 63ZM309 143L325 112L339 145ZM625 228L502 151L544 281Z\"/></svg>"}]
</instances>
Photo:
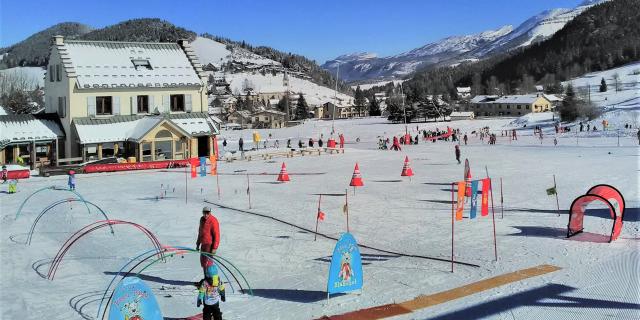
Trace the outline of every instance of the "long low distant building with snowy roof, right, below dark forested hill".
<instances>
[{"instance_id":1,"label":"long low distant building with snowy roof, right, below dark forested hill","mask_svg":"<svg viewBox=\"0 0 640 320\"><path fill-rule=\"evenodd\" d=\"M471 99L466 111L473 111L478 116L521 116L553 109L553 104L543 94L478 95Z\"/></svg>"}]
</instances>

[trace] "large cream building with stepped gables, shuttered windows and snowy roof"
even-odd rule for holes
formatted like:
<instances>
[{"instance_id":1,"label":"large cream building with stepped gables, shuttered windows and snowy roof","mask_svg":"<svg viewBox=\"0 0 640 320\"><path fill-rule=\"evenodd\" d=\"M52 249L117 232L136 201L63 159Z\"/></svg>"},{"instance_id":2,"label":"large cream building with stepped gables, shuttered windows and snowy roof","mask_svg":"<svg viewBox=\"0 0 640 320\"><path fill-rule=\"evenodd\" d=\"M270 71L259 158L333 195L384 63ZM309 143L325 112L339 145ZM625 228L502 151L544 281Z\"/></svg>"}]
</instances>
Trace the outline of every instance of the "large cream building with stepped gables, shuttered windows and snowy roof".
<instances>
[{"instance_id":1,"label":"large cream building with stepped gables, shuttered windows and snowy roof","mask_svg":"<svg viewBox=\"0 0 640 320\"><path fill-rule=\"evenodd\" d=\"M62 137L56 157L130 161L213 154L207 78L186 40L65 40L55 36L45 78L46 113ZM56 132L59 134L59 132Z\"/></svg>"}]
</instances>

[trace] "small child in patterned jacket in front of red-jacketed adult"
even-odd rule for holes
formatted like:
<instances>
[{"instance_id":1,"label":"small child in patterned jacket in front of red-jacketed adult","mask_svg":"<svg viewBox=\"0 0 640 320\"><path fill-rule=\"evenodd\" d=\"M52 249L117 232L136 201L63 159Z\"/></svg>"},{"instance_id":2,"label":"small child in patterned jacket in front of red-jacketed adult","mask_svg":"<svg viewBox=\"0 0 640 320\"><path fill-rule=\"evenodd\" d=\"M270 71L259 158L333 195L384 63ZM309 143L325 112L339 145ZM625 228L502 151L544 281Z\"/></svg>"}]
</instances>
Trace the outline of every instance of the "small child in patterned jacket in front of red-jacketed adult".
<instances>
[{"instance_id":1,"label":"small child in patterned jacket in front of red-jacketed adult","mask_svg":"<svg viewBox=\"0 0 640 320\"><path fill-rule=\"evenodd\" d=\"M215 265L209 266L204 279L198 283L198 307L204 304L202 309L202 320L222 320L220 312L220 300L226 300L224 294L224 284L218 276L218 268Z\"/></svg>"}]
</instances>

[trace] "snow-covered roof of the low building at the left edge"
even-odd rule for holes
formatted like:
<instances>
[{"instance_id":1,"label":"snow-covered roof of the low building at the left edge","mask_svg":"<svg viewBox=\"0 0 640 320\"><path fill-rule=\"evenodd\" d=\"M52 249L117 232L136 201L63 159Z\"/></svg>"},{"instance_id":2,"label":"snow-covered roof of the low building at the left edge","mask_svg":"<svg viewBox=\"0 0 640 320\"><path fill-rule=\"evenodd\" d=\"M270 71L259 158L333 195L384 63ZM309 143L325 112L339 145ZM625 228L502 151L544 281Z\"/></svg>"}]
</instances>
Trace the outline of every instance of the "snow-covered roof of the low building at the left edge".
<instances>
[{"instance_id":1,"label":"snow-covered roof of the low building at the left edge","mask_svg":"<svg viewBox=\"0 0 640 320\"><path fill-rule=\"evenodd\" d=\"M55 140L64 137L56 114L13 114L0 115L0 141L30 142Z\"/></svg>"}]
</instances>

